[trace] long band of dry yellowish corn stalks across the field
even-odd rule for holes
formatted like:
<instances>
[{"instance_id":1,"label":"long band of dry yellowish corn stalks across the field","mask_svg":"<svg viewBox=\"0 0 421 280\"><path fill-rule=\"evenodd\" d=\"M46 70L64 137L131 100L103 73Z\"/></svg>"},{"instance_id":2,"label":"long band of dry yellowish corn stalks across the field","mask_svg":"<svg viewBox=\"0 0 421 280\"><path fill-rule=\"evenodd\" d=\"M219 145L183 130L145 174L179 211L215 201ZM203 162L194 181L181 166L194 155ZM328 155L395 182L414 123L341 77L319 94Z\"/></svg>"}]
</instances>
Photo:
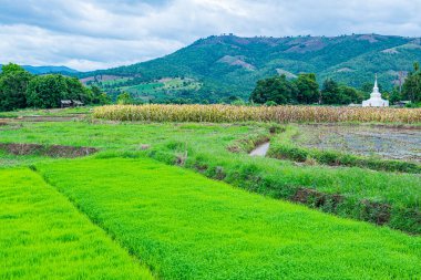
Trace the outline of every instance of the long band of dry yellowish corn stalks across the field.
<instances>
[{"instance_id":1,"label":"long band of dry yellowish corn stalks across the field","mask_svg":"<svg viewBox=\"0 0 421 280\"><path fill-rule=\"evenodd\" d=\"M150 122L421 123L421 108L234 105L109 105L94 117Z\"/></svg>"}]
</instances>

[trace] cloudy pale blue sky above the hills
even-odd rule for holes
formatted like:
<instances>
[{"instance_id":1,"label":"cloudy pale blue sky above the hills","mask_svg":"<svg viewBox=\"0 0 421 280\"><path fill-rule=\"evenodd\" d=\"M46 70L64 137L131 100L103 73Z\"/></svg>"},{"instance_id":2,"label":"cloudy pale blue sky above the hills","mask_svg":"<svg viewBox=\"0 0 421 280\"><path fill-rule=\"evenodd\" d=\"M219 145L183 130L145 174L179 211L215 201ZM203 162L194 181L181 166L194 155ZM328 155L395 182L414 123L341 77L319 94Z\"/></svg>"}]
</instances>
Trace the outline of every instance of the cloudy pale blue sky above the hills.
<instances>
[{"instance_id":1,"label":"cloudy pale blue sky above the hills","mask_svg":"<svg viewBox=\"0 0 421 280\"><path fill-rule=\"evenodd\" d=\"M421 37L419 11L421 0L0 0L0 63L107 69L222 33Z\"/></svg>"}]
</instances>

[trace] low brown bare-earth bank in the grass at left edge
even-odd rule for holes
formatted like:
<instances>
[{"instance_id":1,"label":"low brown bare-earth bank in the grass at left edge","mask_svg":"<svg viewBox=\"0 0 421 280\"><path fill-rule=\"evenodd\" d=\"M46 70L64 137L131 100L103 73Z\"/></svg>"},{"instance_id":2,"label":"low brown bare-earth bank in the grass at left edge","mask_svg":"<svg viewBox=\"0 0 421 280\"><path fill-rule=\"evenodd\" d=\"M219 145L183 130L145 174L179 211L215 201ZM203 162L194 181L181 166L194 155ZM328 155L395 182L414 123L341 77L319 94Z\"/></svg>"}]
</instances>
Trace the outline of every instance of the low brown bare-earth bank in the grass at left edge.
<instances>
[{"instance_id":1,"label":"low brown bare-earth bank in the grass at left edge","mask_svg":"<svg viewBox=\"0 0 421 280\"><path fill-rule=\"evenodd\" d=\"M73 147L52 145L44 146L40 144L19 144L19 143L0 143L0 149L13 155L43 155L51 157L80 157L88 156L97 152L93 147Z\"/></svg>"}]
</instances>

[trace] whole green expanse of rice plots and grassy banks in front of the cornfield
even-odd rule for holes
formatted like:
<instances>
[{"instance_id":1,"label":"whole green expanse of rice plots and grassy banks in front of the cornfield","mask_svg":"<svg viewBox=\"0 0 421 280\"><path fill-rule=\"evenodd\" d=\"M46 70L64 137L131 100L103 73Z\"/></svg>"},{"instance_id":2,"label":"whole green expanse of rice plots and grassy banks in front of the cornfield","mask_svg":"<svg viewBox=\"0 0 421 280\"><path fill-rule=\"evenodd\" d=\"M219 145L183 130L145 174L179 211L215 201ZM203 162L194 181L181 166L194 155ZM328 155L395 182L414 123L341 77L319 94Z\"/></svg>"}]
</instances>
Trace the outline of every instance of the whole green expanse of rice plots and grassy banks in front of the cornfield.
<instances>
[{"instance_id":1,"label":"whole green expanse of rice plots and grassy banks in front of the cornfield","mask_svg":"<svg viewBox=\"0 0 421 280\"><path fill-rule=\"evenodd\" d=\"M287 133L4 120L0 143L99 153L0 151L0 279L420 279L420 174L247 154Z\"/></svg>"}]
</instances>

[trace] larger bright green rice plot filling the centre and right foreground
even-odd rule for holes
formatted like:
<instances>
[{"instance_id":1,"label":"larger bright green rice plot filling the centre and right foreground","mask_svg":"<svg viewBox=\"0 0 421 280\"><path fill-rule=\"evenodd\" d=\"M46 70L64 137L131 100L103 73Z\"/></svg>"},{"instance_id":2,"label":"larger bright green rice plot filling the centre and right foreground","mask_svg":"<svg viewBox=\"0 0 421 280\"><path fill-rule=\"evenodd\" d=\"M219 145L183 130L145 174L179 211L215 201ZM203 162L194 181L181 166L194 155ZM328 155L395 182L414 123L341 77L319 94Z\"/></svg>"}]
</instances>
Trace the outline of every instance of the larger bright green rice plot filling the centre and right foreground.
<instances>
[{"instance_id":1,"label":"larger bright green rice plot filling the centre and right foreground","mask_svg":"<svg viewBox=\"0 0 421 280\"><path fill-rule=\"evenodd\" d=\"M421 239L152 159L37 165L165 279L417 279Z\"/></svg>"}]
</instances>

